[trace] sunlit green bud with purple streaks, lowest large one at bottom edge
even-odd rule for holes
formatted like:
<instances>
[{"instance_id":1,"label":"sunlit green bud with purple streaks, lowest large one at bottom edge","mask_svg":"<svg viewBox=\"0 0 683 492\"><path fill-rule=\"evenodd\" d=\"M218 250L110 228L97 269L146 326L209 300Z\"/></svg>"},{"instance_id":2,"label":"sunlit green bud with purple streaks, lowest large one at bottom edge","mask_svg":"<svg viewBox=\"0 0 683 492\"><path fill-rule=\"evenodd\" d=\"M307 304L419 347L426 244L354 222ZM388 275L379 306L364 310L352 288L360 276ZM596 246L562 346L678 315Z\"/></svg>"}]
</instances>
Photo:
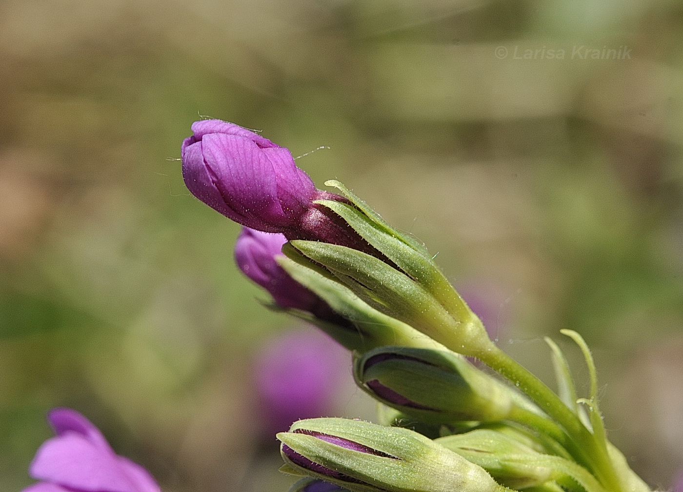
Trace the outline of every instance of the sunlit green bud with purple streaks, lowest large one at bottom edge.
<instances>
[{"instance_id":1,"label":"sunlit green bud with purple streaks, lowest large one at bottom edge","mask_svg":"<svg viewBox=\"0 0 683 492\"><path fill-rule=\"evenodd\" d=\"M501 492L481 467L408 429L316 418L279 433L285 463L354 492Z\"/></svg>"}]
</instances>

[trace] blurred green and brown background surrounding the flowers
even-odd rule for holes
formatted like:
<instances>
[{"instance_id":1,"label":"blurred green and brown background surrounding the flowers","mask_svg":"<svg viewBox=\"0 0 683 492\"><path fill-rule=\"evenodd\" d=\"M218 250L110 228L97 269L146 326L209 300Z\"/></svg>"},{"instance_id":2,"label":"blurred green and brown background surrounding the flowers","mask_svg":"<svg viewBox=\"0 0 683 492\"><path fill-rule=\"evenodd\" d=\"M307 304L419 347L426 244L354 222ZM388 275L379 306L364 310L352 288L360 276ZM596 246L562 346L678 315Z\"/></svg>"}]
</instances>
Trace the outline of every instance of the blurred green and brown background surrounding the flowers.
<instances>
[{"instance_id":1,"label":"blurred green and brown background surrounding the flowers","mask_svg":"<svg viewBox=\"0 0 683 492\"><path fill-rule=\"evenodd\" d=\"M682 26L673 0L3 1L0 489L31 483L56 405L167 492L292 481L255 438L249 365L292 321L236 271L238 226L184 188L174 159L199 115L294 156L330 147L298 165L426 242L544 380L542 336L581 332L611 439L669 487Z\"/></svg>"}]
</instances>

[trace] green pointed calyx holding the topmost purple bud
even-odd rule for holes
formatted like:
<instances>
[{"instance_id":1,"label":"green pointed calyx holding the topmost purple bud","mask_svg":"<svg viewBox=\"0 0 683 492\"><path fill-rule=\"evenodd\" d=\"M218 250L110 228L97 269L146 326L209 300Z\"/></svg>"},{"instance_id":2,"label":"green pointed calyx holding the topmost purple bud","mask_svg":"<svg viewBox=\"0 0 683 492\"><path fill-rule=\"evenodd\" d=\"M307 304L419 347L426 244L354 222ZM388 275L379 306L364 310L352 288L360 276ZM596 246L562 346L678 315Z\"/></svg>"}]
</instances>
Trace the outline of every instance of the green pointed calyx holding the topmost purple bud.
<instances>
[{"instance_id":1,"label":"green pointed calyx holding the topmost purple bud","mask_svg":"<svg viewBox=\"0 0 683 492\"><path fill-rule=\"evenodd\" d=\"M365 302L434 338L449 349L478 356L492 347L484 325L412 237L387 224L339 182L327 182L347 201L318 200L375 251L329 242L292 241L292 246L324 265Z\"/></svg>"}]
</instances>

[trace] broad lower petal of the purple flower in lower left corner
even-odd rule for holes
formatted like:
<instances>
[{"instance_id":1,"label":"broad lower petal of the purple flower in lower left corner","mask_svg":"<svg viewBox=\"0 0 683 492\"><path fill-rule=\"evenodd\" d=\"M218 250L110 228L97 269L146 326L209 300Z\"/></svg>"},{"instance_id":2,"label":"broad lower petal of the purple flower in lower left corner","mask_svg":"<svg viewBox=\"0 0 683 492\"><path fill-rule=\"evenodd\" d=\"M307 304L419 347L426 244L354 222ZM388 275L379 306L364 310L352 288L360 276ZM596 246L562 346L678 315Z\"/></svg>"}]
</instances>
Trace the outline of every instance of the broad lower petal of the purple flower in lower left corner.
<instances>
[{"instance_id":1,"label":"broad lower petal of the purple flower in lower left corner","mask_svg":"<svg viewBox=\"0 0 683 492\"><path fill-rule=\"evenodd\" d=\"M31 463L31 476L88 492L141 492L118 457L76 432L48 439Z\"/></svg>"}]
</instances>

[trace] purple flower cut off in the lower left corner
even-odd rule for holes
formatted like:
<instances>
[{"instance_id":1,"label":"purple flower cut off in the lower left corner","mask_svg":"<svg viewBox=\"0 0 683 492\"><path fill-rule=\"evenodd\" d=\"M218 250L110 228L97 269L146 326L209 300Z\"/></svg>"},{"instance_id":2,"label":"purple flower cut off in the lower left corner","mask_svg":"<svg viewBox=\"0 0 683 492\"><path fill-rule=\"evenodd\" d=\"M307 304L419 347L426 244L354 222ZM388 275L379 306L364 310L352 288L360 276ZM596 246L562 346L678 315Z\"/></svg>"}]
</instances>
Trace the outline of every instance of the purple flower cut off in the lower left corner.
<instances>
[{"instance_id":1,"label":"purple flower cut off in the lower left corner","mask_svg":"<svg viewBox=\"0 0 683 492\"><path fill-rule=\"evenodd\" d=\"M77 411L55 408L48 422L57 435L40 446L29 469L42 481L23 492L159 492L143 467L117 456Z\"/></svg>"}]
</instances>

